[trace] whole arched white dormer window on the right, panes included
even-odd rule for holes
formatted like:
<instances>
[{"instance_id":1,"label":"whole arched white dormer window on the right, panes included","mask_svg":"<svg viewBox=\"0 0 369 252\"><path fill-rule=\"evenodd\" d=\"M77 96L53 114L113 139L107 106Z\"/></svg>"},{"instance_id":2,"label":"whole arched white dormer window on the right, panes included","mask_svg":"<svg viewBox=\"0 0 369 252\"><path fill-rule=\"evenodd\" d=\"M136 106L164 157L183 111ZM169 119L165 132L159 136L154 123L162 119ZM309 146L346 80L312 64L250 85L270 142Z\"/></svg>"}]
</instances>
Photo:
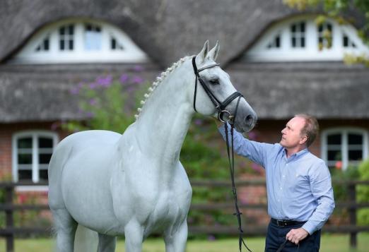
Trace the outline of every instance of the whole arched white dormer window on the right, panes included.
<instances>
[{"instance_id":1,"label":"whole arched white dormer window on the right, panes included","mask_svg":"<svg viewBox=\"0 0 369 252\"><path fill-rule=\"evenodd\" d=\"M345 54L369 55L352 25L300 16L272 25L246 52L246 61L343 61Z\"/></svg>"}]
</instances>

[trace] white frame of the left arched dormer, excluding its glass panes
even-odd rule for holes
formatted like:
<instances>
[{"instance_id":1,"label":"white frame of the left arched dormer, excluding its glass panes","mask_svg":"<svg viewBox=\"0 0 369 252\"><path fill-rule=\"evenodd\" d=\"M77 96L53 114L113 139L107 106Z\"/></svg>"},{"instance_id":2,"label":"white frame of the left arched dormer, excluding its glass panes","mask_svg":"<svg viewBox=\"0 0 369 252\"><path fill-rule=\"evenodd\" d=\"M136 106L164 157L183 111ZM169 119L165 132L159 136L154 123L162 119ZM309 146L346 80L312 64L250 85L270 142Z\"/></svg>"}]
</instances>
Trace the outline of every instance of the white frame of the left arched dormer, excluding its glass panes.
<instances>
[{"instance_id":1,"label":"white frame of the left arched dormer, excluding its glass panes","mask_svg":"<svg viewBox=\"0 0 369 252\"><path fill-rule=\"evenodd\" d=\"M101 28L102 48L100 50L85 49L85 25L89 23ZM74 49L59 49L59 28L74 25ZM36 51L40 43L49 35L49 50ZM115 37L122 50L110 49L110 38ZM102 21L75 18L61 20L45 26L36 32L25 44L21 52L10 61L11 64L73 64L73 63L145 63L148 56L119 28Z\"/></svg>"}]
</instances>

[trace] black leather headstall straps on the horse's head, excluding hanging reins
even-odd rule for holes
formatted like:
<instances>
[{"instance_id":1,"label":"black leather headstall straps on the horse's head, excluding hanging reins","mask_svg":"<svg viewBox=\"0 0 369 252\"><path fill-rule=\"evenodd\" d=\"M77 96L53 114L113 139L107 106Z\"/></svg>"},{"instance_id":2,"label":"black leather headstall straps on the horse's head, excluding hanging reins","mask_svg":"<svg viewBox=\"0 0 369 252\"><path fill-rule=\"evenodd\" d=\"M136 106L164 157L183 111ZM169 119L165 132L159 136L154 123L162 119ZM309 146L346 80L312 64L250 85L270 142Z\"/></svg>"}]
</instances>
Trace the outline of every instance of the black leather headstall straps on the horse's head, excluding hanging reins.
<instances>
[{"instance_id":1,"label":"black leather headstall straps on the horse's head, excluding hanging reins","mask_svg":"<svg viewBox=\"0 0 369 252\"><path fill-rule=\"evenodd\" d=\"M197 97L197 80L199 80L202 88L204 88L206 94L209 96L211 102L213 102L214 106L216 107L216 110L218 111L218 120L219 121L233 121L235 119L235 116L237 114L237 109L238 109L238 104L240 102L240 99L242 97L241 93L236 91L233 92L232 95L228 96L223 102L220 102L215 95L213 95L213 93L211 92L211 90L209 89L209 87L205 84L204 80L201 78L201 76L199 75L199 73L207 68L212 68L214 66L219 66L219 64L211 64L209 66L204 66L201 67L199 69L197 69L196 66L196 56L194 56L192 58L192 66L194 68L194 74L196 76L196 80L195 80L195 88L194 88L194 111L197 112L196 109L196 97ZM237 105L236 105L236 109L235 109L235 114L230 114L230 112L228 110L225 110L225 107L228 106L228 104L230 104L230 102L232 102L233 100L235 100L235 98L238 97L238 101L237 101ZM224 114L228 114L227 116L227 120L223 119L223 115Z\"/></svg>"}]
</instances>

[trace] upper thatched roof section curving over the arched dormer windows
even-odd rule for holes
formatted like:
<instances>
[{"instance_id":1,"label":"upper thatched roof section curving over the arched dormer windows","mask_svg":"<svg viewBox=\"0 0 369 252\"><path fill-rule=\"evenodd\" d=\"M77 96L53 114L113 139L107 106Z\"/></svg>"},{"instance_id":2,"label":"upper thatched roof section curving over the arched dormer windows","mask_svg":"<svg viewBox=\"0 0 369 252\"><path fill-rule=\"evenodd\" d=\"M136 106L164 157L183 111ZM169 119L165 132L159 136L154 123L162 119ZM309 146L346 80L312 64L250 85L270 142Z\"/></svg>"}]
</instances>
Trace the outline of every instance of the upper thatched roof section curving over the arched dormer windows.
<instances>
[{"instance_id":1,"label":"upper thatched roof section curving over the arched dormer windows","mask_svg":"<svg viewBox=\"0 0 369 252\"><path fill-rule=\"evenodd\" d=\"M117 25L162 67L197 52L205 40L221 41L219 60L225 63L268 25L295 13L282 0L5 0L0 1L0 62L44 25L84 17Z\"/></svg>"}]
</instances>

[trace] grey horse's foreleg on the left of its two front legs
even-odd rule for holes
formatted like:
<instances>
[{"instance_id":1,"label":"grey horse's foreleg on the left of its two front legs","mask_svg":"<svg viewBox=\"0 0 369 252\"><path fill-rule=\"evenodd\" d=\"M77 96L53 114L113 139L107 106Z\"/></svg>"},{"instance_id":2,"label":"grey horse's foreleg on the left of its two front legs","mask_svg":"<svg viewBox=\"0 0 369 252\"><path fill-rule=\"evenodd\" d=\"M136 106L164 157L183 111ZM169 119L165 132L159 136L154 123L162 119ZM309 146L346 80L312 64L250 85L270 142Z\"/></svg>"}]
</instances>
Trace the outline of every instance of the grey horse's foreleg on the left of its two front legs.
<instances>
[{"instance_id":1,"label":"grey horse's foreleg on the left of its two front legs","mask_svg":"<svg viewBox=\"0 0 369 252\"><path fill-rule=\"evenodd\" d=\"M142 227L139 222L131 220L124 227L124 236L126 252L142 251L142 242L144 241L144 227Z\"/></svg>"}]
</instances>

